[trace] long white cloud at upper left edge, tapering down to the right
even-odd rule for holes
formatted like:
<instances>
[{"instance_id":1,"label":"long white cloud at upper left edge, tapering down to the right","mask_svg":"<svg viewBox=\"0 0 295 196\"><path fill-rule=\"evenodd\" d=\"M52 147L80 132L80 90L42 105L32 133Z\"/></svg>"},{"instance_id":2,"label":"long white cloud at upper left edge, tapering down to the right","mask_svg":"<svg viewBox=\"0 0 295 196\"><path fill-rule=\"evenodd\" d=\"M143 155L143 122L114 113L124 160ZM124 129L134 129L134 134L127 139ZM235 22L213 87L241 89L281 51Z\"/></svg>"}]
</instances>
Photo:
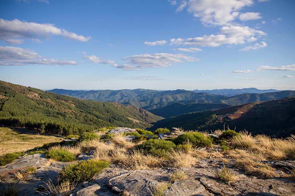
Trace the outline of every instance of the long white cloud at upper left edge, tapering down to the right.
<instances>
[{"instance_id":1,"label":"long white cloud at upper left edge, tapering down to the right","mask_svg":"<svg viewBox=\"0 0 295 196\"><path fill-rule=\"evenodd\" d=\"M60 35L80 42L87 42L89 39L91 39L90 36L84 37L83 35L77 35L65 29L59 29L53 24L49 23L40 24L33 22L23 22L18 19L0 19L0 39L4 41L24 38L40 39L47 38L50 35Z\"/></svg>"}]
</instances>

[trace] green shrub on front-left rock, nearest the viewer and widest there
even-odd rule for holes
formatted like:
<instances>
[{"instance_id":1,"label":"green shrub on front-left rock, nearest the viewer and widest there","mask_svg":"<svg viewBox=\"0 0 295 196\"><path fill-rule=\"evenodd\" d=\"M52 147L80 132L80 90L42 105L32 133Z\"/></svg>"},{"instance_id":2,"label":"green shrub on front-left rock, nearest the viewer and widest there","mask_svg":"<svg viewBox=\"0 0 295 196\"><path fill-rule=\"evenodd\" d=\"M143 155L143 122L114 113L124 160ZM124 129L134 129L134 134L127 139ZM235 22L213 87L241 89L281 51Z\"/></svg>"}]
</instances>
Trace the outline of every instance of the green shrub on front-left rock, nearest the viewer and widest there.
<instances>
[{"instance_id":1,"label":"green shrub on front-left rock, nearest the viewer and widest there","mask_svg":"<svg viewBox=\"0 0 295 196\"><path fill-rule=\"evenodd\" d=\"M94 174L99 173L105 167L108 167L109 163L102 160L89 159L87 161L80 161L75 164L67 165L63 167L60 172L62 181L69 182L83 182L89 181Z\"/></svg>"}]
</instances>

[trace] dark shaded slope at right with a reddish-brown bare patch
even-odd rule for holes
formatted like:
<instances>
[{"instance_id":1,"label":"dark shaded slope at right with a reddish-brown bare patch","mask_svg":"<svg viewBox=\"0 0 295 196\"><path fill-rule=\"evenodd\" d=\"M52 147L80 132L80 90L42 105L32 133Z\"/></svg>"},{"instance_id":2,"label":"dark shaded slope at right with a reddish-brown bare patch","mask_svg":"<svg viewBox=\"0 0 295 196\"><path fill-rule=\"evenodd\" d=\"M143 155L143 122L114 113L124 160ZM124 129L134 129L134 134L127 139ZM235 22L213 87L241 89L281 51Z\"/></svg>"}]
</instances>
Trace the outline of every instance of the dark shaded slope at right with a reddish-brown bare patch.
<instances>
[{"instance_id":1,"label":"dark shaded slope at right with a reddish-brown bare patch","mask_svg":"<svg viewBox=\"0 0 295 196\"><path fill-rule=\"evenodd\" d=\"M160 127L182 127L186 130L210 132L223 129L224 126L272 137L295 134L295 97L184 114L157 121L150 130Z\"/></svg>"}]
</instances>

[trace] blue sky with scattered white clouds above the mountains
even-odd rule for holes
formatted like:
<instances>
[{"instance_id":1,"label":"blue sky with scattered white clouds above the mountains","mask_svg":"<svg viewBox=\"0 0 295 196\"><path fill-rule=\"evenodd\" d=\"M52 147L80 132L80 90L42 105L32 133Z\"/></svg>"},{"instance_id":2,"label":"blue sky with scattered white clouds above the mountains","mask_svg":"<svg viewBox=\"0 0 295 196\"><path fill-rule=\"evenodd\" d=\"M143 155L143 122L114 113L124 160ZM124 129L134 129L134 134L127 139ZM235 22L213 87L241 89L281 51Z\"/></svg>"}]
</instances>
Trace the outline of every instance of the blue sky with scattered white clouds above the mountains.
<instances>
[{"instance_id":1,"label":"blue sky with scattered white clouds above the mountains","mask_svg":"<svg viewBox=\"0 0 295 196\"><path fill-rule=\"evenodd\" d=\"M0 80L40 89L295 90L295 2L0 1Z\"/></svg>"}]
</instances>

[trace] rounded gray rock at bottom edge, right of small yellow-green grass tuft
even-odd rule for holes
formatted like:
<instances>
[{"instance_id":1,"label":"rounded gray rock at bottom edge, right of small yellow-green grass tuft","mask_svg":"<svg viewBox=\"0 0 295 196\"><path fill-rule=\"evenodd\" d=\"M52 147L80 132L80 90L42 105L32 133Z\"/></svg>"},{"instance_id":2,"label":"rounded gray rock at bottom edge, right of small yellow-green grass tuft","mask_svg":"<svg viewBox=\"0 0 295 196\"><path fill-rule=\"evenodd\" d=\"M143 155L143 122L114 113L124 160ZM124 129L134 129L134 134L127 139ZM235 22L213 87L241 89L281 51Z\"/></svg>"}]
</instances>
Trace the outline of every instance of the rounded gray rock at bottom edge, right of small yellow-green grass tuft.
<instances>
[{"instance_id":1,"label":"rounded gray rock at bottom edge, right of small yellow-green grass tuft","mask_svg":"<svg viewBox=\"0 0 295 196\"><path fill-rule=\"evenodd\" d=\"M168 189L164 191L164 196L177 195L177 196L187 196L187 195L210 195L205 187L194 179L178 180L172 184Z\"/></svg>"}]
</instances>

